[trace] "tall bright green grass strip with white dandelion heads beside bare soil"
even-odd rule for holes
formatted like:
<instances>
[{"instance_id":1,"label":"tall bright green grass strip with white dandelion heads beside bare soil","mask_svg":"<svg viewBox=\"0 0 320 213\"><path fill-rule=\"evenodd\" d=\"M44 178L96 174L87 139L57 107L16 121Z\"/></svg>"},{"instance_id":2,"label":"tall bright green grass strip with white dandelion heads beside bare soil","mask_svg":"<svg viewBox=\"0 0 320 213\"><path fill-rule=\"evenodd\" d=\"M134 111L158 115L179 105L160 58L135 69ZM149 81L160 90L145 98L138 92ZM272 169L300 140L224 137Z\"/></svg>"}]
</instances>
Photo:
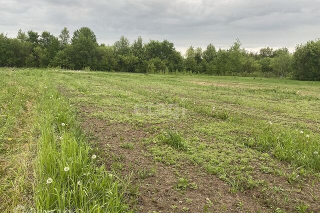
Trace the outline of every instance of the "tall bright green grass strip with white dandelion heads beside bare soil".
<instances>
[{"instance_id":1,"label":"tall bright green grass strip with white dandelion heads beside bare soil","mask_svg":"<svg viewBox=\"0 0 320 213\"><path fill-rule=\"evenodd\" d=\"M36 211L128 212L125 183L97 166L69 104L43 87L36 114Z\"/></svg>"}]
</instances>

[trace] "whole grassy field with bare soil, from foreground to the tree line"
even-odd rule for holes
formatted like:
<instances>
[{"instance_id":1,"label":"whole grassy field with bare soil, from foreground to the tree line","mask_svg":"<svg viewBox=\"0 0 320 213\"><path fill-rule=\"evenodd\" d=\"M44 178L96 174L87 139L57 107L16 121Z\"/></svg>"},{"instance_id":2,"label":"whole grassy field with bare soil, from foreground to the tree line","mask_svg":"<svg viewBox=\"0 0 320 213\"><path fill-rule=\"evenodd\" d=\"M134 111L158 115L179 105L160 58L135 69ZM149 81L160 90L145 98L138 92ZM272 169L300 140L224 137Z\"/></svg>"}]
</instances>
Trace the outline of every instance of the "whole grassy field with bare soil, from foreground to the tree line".
<instances>
[{"instance_id":1,"label":"whole grassy field with bare soil, from foreground to the tree line","mask_svg":"<svg viewBox=\"0 0 320 213\"><path fill-rule=\"evenodd\" d=\"M320 212L320 82L0 73L0 212Z\"/></svg>"}]
</instances>

